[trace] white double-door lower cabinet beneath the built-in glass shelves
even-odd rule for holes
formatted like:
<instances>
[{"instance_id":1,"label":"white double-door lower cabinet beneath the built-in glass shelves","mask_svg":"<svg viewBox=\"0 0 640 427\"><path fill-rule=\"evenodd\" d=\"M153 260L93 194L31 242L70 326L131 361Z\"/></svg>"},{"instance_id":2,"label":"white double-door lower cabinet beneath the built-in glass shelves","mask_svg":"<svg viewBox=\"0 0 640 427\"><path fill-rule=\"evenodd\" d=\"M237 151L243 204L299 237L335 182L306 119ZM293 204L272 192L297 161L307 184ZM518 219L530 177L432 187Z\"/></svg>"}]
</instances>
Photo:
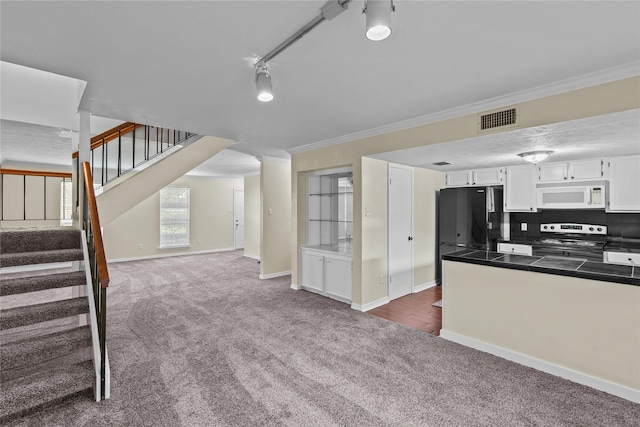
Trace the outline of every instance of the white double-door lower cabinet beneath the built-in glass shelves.
<instances>
[{"instance_id":1,"label":"white double-door lower cabinet beneath the built-in glass shelves","mask_svg":"<svg viewBox=\"0 0 640 427\"><path fill-rule=\"evenodd\" d=\"M349 255L300 248L300 286L329 298L351 303L352 265Z\"/></svg>"}]
</instances>

